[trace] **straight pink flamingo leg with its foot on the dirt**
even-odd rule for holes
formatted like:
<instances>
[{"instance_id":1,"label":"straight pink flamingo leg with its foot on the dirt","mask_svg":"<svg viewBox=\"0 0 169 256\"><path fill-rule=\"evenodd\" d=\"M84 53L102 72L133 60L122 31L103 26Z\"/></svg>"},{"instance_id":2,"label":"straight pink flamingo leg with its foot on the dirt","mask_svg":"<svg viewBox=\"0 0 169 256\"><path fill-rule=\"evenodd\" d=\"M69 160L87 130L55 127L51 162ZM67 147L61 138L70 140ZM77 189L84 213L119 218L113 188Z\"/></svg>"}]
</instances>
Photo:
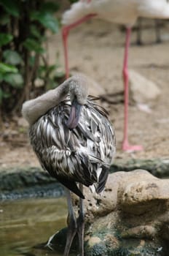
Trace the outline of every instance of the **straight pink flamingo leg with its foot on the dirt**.
<instances>
[{"instance_id":1,"label":"straight pink flamingo leg with its foot on the dirt","mask_svg":"<svg viewBox=\"0 0 169 256\"><path fill-rule=\"evenodd\" d=\"M128 49L130 46L130 34L131 29L127 28L126 30L126 41L125 41L125 58L123 65L123 78L124 78L124 86L125 86L125 124L124 124L124 138L122 142L122 149L125 151L141 151L143 150L142 146L139 145L130 145L128 143L128 98L129 98L129 90L128 90Z\"/></svg>"}]
</instances>

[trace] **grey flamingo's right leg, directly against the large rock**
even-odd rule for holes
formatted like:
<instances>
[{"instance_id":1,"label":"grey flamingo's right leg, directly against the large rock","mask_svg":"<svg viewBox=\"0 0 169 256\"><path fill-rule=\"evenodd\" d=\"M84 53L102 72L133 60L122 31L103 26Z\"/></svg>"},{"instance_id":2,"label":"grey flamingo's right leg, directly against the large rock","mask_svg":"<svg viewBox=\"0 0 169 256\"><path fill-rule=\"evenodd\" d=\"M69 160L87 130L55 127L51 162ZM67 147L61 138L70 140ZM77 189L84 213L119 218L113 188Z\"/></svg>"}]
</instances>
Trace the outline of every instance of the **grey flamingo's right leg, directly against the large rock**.
<instances>
[{"instance_id":1,"label":"grey flamingo's right leg, directly against the large rock","mask_svg":"<svg viewBox=\"0 0 169 256\"><path fill-rule=\"evenodd\" d=\"M79 184L79 189L83 192L83 185ZM80 256L84 256L84 206L83 199L79 198L79 217L77 219L77 234L79 238Z\"/></svg>"}]
</instances>

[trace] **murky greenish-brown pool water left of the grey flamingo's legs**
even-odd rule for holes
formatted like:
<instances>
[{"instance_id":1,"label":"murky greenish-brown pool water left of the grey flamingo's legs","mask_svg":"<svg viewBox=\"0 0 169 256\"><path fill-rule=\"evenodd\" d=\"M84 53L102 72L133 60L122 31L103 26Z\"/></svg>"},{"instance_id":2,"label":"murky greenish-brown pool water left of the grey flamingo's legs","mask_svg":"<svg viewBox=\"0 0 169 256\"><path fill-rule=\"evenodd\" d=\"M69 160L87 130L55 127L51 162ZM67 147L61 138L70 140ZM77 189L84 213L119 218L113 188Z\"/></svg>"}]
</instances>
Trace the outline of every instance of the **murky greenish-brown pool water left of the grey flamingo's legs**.
<instances>
[{"instance_id":1,"label":"murky greenish-brown pool water left of the grey flamingo's legs","mask_svg":"<svg viewBox=\"0 0 169 256\"><path fill-rule=\"evenodd\" d=\"M0 256L61 256L34 249L66 226L66 198L8 201L0 204Z\"/></svg>"}]
</instances>

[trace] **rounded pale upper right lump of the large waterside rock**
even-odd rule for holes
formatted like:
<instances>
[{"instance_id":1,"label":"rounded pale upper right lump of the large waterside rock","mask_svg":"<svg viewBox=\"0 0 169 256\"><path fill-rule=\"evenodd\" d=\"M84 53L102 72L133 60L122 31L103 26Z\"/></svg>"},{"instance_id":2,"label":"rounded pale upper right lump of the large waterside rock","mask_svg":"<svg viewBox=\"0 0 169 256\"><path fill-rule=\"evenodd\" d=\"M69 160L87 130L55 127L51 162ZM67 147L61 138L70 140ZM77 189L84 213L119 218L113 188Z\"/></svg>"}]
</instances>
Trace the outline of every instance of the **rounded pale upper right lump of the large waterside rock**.
<instances>
[{"instance_id":1,"label":"rounded pale upper right lump of the large waterside rock","mask_svg":"<svg viewBox=\"0 0 169 256\"><path fill-rule=\"evenodd\" d=\"M134 179L130 174L134 176ZM137 177L137 181L135 177ZM144 214L146 211L153 211L153 209L155 211L161 202L169 199L168 179L160 180L151 176L145 170L135 170L129 173L128 178L130 183L125 180L121 187L123 211Z\"/></svg>"}]
</instances>

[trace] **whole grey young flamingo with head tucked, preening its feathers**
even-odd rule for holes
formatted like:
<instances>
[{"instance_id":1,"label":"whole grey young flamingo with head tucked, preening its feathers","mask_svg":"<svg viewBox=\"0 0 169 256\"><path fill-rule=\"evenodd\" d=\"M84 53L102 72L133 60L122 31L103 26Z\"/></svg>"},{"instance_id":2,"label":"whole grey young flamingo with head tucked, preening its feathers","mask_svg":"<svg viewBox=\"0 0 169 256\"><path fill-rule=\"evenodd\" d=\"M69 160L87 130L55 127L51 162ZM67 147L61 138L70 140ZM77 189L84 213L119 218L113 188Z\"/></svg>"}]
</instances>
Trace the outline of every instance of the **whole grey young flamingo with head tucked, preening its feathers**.
<instances>
[{"instance_id":1,"label":"whole grey young flamingo with head tucked, preening its feathers","mask_svg":"<svg viewBox=\"0 0 169 256\"><path fill-rule=\"evenodd\" d=\"M64 256L76 233L80 255L84 255L82 187L96 193L103 191L115 152L114 129L106 110L97 105L95 97L87 95L86 78L75 75L57 89L25 102L22 110L39 162L66 188L68 233ZM70 191L79 196L77 219Z\"/></svg>"}]
</instances>

